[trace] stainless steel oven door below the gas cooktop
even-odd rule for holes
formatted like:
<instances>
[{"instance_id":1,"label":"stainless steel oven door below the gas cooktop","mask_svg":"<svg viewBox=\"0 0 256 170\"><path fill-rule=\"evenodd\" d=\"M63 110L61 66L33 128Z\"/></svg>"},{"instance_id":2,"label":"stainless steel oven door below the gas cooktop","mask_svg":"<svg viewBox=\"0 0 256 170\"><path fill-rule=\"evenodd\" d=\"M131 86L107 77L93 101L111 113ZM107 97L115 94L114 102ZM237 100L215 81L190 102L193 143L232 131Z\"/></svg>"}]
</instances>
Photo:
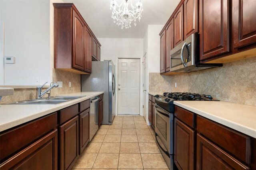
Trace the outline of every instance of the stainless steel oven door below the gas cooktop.
<instances>
[{"instance_id":1,"label":"stainless steel oven door below the gas cooktop","mask_svg":"<svg viewBox=\"0 0 256 170\"><path fill-rule=\"evenodd\" d=\"M172 115L172 113L166 112L157 104L155 104L155 112L156 141L166 154L170 154L170 115Z\"/></svg>"}]
</instances>

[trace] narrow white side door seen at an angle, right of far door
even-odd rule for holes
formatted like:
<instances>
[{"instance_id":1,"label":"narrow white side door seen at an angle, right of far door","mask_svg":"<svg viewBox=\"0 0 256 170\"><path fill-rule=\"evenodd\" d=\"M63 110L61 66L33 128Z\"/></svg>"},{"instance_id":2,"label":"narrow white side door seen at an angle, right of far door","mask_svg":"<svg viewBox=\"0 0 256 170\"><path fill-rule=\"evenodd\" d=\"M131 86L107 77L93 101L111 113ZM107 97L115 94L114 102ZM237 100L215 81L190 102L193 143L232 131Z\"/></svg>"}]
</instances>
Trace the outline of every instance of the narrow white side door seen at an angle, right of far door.
<instances>
[{"instance_id":1,"label":"narrow white side door seen at an angle, right of far door","mask_svg":"<svg viewBox=\"0 0 256 170\"><path fill-rule=\"evenodd\" d=\"M143 116L145 120L147 119L147 53L143 56Z\"/></svg>"}]
</instances>

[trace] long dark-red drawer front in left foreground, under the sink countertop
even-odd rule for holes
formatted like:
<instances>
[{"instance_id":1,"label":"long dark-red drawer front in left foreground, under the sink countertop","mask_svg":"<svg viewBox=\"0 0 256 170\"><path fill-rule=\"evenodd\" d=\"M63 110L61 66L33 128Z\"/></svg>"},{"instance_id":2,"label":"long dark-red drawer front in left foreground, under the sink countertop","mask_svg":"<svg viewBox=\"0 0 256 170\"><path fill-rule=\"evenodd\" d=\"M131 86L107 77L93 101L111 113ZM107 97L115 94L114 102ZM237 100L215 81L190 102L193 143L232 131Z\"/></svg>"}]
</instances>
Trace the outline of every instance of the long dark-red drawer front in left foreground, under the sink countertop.
<instances>
[{"instance_id":1,"label":"long dark-red drawer front in left foreground, under the sink countertop","mask_svg":"<svg viewBox=\"0 0 256 170\"><path fill-rule=\"evenodd\" d=\"M0 135L0 160L57 127L57 113L39 118ZM2 161L1 161L2 162Z\"/></svg>"}]
</instances>

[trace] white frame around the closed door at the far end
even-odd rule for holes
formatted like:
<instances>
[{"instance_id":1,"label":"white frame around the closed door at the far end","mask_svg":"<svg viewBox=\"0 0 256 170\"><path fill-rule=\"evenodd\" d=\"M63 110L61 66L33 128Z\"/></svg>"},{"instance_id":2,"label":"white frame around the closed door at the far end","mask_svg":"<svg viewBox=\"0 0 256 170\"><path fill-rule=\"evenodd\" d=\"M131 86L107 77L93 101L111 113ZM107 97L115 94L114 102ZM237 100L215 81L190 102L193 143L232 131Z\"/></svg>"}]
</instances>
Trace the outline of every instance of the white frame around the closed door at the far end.
<instances>
[{"instance_id":1,"label":"white frame around the closed door at the far end","mask_svg":"<svg viewBox=\"0 0 256 170\"><path fill-rule=\"evenodd\" d=\"M143 57L143 56L142 56ZM139 56L116 56L116 87L117 87L117 93L116 93L116 115L118 115L118 59L139 59L140 60L140 116L143 115L143 109L142 109L142 105L143 105L143 101L142 101L142 91L141 89L143 89L142 87L142 57Z\"/></svg>"}]
</instances>

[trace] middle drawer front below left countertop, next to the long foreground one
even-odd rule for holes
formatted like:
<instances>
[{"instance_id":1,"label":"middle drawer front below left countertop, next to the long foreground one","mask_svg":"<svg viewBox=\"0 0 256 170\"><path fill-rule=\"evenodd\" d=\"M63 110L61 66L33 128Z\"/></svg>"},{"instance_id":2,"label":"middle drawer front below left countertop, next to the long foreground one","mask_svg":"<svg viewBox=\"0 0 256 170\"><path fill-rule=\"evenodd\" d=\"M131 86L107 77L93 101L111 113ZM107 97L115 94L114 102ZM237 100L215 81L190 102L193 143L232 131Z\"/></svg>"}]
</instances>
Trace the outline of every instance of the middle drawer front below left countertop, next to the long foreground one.
<instances>
[{"instance_id":1,"label":"middle drawer front below left countertop, next to the long foreground one","mask_svg":"<svg viewBox=\"0 0 256 170\"><path fill-rule=\"evenodd\" d=\"M60 125L78 114L78 104L60 110Z\"/></svg>"}]
</instances>

